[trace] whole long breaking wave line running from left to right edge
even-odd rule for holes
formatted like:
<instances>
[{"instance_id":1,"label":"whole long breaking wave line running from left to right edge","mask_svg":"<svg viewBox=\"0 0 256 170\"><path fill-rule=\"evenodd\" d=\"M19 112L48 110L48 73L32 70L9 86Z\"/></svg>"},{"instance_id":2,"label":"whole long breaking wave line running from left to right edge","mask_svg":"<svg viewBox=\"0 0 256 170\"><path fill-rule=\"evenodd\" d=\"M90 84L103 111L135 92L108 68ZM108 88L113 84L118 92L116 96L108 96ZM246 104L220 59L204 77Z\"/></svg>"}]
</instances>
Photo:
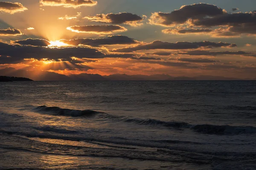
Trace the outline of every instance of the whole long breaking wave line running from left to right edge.
<instances>
[{"instance_id":1,"label":"whole long breaking wave line running from left to right edge","mask_svg":"<svg viewBox=\"0 0 256 170\"><path fill-rule=\"evenodd\" d=\"M39 106L34 111L40 113L51 113L65 116L95 116L96 119L108 119L113 122L133 123L134 125L147 125L154 127L168 127L177 129L189 129L198 133L218 134L218 135L235 135L235 134L252 134L256 133L256 127L253 126L230 126L230 125L192 125L187 122L166 122L156 119L140 119L128 116L114 116L103 112L91 110L71 110L59 107Z\"/></svg>"}]
</instances>

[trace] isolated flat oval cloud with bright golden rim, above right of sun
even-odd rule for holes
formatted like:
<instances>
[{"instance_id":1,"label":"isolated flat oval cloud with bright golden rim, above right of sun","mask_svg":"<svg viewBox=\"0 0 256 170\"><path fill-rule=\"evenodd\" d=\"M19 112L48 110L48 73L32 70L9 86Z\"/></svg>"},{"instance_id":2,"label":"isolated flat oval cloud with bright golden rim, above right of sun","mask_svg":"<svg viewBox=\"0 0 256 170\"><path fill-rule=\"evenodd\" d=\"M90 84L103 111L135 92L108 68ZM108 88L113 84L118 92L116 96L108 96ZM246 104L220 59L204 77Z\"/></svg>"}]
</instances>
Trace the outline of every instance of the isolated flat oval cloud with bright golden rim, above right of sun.
<instances>
[{"instance_id":1,"label":"isolated flat oval cloud with bright golden rim, above right of sun","mask_svg":"<svg viewBox=\"0 0 256 170\"><path fill-rule=\"evenodd\" d=\"M67 30L77 32L77 33L91 33L91 34L113 34L115 32L127 31L125 27L122 26L112 26L112 25L102 25L102 26L70 26Z\"/></svg>"}]
</instances>

